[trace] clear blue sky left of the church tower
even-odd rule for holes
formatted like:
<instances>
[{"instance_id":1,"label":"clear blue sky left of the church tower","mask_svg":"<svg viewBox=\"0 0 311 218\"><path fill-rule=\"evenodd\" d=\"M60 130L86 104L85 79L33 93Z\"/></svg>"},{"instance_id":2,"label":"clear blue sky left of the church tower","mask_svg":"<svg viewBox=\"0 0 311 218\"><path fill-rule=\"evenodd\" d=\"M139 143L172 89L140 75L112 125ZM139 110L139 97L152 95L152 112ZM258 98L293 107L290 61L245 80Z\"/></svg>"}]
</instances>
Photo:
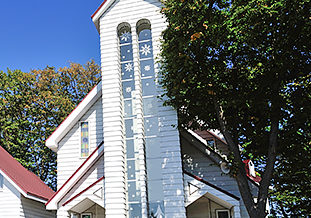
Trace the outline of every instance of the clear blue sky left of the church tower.
<instances>
[{"instance_id":1,"label":"clear blue sky left of the church tower","mask_svg":"<svg viewBox=\"0 0 311 218\"><path fill-rule=\"evenodd\" d=\"M91 15L103 0L0 0L0 71L100 63Z\"/></svg>"}]
</instances>

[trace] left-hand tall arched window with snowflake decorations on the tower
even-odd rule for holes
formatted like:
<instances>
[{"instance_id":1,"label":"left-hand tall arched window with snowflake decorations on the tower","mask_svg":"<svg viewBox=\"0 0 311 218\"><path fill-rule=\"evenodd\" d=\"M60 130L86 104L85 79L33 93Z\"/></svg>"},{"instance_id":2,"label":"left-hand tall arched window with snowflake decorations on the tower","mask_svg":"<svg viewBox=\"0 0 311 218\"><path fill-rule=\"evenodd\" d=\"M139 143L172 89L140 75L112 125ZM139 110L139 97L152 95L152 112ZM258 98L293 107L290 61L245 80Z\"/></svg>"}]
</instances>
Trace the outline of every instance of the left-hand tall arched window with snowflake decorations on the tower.
<instances>
[{"instance_id":1,"label":"left-hand tall arched window with snowflake decorations on the tower","mask_svg":"<svg viewBox=\"0 0 311 218\"><path fill-rule=\"evenodd\" d=\"M133 45L131 27L128 23L121 23L118 26L118 37L120 47L122 93L124 101L128 210L129 217L141 217L139 151L136 146L136 140L134 139L134 125L137 117L135 111L133 110L135 98Z\"/></svg>"}]
</instances>

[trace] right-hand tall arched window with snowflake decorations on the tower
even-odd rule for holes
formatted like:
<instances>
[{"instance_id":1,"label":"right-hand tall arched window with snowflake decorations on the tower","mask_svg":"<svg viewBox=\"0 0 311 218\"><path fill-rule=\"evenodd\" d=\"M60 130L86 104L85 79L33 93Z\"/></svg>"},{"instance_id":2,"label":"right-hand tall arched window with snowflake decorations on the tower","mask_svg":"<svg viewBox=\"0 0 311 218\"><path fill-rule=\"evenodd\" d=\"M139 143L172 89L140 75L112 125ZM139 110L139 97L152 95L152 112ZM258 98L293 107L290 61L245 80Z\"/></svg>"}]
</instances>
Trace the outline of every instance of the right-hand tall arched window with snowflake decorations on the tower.
<instances>
[{"instance_id":1,"label":"right-hand tall arched window with snowflake decorations on the tower","mask_svg":"<svg viewBox=\"0 0 311 218\"><path fill-rule=\"evenodd\" d=\"M164 216L162 155L159 147L158 101L156 74L153 57L151 24L147 19L137 22L139 62L143 97L145 155L147 164L147 184L149 214L154 217Z\"/></svg>"}]
</instances>

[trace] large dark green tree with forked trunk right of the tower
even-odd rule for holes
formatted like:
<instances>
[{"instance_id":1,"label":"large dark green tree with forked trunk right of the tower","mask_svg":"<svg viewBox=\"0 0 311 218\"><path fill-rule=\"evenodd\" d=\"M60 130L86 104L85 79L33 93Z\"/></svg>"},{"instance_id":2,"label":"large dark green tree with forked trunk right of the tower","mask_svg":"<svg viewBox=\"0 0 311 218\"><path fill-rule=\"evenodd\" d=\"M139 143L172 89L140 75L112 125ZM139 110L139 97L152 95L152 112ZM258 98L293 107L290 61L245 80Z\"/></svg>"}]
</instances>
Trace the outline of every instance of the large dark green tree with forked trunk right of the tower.
<instances>
[{"instance_id":1,"label":"large dark green tree with forked trunk right of the tower","mask_svg":"<svg viewBox=\"0 0 311 218\"><path fill-rule=\"evenodd\" d=\"M272 181L281 182L282 167L291 167L310 147L310 1L163 3L166 103L177 109L181 127L222 132L247 211L264 217ZM256 203L243 158L261 166Z\"/></svg>"}]
</instances>

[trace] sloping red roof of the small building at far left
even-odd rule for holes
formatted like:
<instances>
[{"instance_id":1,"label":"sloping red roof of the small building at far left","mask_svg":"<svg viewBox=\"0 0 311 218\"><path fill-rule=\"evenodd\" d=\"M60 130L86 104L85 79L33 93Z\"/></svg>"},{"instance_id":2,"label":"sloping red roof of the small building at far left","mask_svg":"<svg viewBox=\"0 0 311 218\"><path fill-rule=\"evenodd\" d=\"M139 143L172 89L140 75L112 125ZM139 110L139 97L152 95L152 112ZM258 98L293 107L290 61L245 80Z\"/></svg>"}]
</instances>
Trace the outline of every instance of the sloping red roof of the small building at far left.
<instances>
[{"instance_id":1,"label":"sloping red roof of the small building at far left","mask_svg":"<svg viewBox=\"0 0 311 218\"><path fill-rule=\"evenodd\" d=\"M54 194L54 191L38 176L24 168L2 146L0 146L0 169L28 195L48 200Z\"/></svg>"}]
</instances>

